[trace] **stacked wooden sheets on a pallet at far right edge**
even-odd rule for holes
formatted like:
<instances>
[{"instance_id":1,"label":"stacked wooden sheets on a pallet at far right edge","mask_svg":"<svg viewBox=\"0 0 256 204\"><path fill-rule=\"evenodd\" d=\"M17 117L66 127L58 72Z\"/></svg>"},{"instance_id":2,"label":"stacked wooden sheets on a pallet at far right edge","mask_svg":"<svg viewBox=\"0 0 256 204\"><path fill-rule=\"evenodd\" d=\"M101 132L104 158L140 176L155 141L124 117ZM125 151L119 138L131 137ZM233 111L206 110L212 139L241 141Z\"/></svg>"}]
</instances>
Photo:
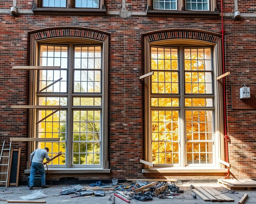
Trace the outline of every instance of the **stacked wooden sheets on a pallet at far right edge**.
<instances>
[{"instance_id":1,"label":"stacked wooden sheets on a pallet at far right edge","mask_svg":"<svg viewBox=\"0 0 256 204\"><path fill-rule=\"evenodd\" d=\"M218 179L218 182L229 190L256 190L256 181L251 179Z\"/></svg>"}]
</instances>

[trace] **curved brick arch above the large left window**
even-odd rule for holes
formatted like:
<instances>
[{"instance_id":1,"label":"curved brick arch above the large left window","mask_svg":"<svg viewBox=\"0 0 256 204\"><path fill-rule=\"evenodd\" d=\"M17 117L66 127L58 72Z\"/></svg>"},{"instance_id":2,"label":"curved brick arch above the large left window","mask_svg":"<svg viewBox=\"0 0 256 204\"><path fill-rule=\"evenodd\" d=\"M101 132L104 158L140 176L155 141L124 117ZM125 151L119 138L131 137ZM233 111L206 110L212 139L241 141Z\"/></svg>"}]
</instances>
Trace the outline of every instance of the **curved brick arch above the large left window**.
<instances>
[{"instance_id":1,"label":"curved brick arch above the large left window","mask_svg":"<svg viewBox=\"0 0 256 204\"><path fill-rule=\"evenodd\" d=\"M94 40L105 41L109 33L86 28L46 28L38 31L32 31L36 40L51 38L51 37L85 37Z\"/></svg>"}]
</instances>

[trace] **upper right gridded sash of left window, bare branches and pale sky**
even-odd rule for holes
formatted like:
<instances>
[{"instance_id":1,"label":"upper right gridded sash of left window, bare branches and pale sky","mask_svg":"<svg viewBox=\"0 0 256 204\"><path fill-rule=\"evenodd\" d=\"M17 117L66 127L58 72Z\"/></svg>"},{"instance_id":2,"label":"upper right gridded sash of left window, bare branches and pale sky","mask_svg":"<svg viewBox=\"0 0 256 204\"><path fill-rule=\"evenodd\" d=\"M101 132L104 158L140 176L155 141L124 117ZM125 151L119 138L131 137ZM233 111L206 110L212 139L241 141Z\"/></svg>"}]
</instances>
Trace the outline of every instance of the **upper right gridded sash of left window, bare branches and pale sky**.
<instances>
[{"instance_id":1,"label":"upper right gridded sash of left window, bare branches and pale sky","mask_svg":"<svg viewBox=\"0 0 256 204\"><path fill-rule=\"evenodd\" d=\"M101 92L101 46L75 47L74 92Z\"/></svg>"}]
</instances>

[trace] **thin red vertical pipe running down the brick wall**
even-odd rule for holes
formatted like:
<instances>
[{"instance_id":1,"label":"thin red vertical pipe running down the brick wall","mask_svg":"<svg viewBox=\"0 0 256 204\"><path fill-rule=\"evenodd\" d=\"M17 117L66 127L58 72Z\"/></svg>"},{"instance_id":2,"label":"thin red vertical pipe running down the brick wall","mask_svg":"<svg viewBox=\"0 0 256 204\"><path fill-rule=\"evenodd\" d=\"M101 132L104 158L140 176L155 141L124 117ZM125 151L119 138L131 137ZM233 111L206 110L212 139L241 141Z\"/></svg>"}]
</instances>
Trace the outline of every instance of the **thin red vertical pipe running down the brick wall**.
<instances>
[{"instance_id":1,"label":"thin red vertical pipe running down the brick wall","mask_svg":"<svg viewBox=\"0 0 256 204\"><path fill-rule=\"evenodd\" d=\"M223 2L221 0L221 35L222 35L222 73L225 73L225 48L224 48L224 24L223 24ZM225 139L225 161L229 162L229 150L228 150L228 140L227 135L227 113L226 113L226 85L225 77L223 78L223 99L224 99L224 139ZM229 177L229 166L227 167L227 175L225 179Z\"/></svg>"}]
</instances>

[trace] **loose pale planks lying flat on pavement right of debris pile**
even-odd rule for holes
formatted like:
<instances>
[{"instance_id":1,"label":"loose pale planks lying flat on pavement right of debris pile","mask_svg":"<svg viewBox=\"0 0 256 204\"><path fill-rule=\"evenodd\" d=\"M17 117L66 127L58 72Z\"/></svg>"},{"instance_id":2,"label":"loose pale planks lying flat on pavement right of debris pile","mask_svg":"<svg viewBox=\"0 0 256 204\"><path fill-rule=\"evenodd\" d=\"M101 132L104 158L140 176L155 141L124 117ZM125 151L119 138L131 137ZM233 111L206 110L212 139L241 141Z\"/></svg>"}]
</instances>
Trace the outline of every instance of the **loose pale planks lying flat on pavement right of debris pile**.
<instances>
[{"instance_id":1,"label":"loose pale planks lying flat on pavement right of debris pile","mask_svg":"<svg viewBox=\"0 0 256 204\"><path fill-rule=\"evenodd\" d=\"M191 189L197 196L202 198L204 201L213 201L213 202L234 202L235 200L227 197L226 195L218 192L213 188L206 187L195 187L195 189Z\"/></svg>"}]
</instances>

